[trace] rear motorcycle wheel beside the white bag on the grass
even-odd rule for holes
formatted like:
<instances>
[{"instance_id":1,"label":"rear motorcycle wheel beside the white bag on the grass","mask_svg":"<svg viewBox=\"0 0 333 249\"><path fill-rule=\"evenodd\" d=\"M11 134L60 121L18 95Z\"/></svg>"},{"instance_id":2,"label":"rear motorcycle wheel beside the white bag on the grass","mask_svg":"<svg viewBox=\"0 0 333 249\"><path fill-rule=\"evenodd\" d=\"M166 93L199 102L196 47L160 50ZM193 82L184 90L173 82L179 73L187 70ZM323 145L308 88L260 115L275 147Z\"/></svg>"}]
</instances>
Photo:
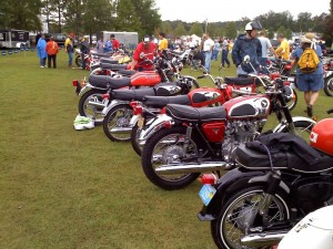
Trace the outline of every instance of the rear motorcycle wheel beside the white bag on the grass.
<instances>
[{"instance_id":1,"label":"rear motorcycle wheel beside the white bag on the grass","mask_svg":"<svg viewBox=\"0 0 333 249\"><path fill-rule=\"evenodd\" d=\"M102 95L105 92L107 91L93 89L84 93L81 96L78 105L80 115L92 117L95 124L102 124L103 116L101 116L101 112L103 111L103 108L90 105L89 101L94 98L95 101L102 102L103 101Z\"/></svg>"}]
</instances>

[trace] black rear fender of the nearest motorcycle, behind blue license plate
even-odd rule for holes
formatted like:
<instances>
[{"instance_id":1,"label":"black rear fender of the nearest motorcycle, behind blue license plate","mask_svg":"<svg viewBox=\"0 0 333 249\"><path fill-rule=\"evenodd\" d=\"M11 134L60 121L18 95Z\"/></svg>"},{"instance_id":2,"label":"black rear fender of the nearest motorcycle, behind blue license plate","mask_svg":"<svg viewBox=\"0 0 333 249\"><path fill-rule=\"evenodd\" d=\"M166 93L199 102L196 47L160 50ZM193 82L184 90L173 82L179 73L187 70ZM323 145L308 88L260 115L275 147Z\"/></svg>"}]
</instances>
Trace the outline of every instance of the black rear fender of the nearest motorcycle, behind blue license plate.
<instances>
[{"instance_id":1,"label":"black rear fender of the nearest motorcycle, behind blue license plate","mask_svg":"<svg viewBox=\"0 0 333 249\"><path fill-rule=\"evenodd\" d=\"M234 168L223 175L216 186L216 193L208 206L203 206L198 214L198 218L202 221L211 221L216 219L223 204L231 191L242 189L249 186L250 179L265 175L263 172L246 172L242 168Z\"/></svg>"}]
</instances>

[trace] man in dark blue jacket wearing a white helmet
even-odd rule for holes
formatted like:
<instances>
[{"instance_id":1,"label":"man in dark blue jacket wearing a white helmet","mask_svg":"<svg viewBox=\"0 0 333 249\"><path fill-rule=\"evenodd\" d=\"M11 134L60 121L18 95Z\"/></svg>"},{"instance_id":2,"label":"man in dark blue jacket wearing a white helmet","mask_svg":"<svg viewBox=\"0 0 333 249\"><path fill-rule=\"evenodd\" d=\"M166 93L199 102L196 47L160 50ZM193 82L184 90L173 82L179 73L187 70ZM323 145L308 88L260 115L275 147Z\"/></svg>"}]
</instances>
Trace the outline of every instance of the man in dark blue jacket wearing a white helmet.
<instances>
[{"instance_id":1,"label":"man in dark blue jacket wearing a white helmet","mask_svg":"<svg viewBox=\"0 0 333 249\"><path fill-rule=\"evenodd\" d=\"M258 73L261 71L260 59L262 58L261 42L256 38L256 31L262 25L259 21L249 22L245 25L245 34L240 34L232 48L232 61L236 65L236 74L248 75L249 73ZM250 62L254 66L253 71L250 63L243 63L244 56L250 56Z\"/></svg>"}]
</instances>

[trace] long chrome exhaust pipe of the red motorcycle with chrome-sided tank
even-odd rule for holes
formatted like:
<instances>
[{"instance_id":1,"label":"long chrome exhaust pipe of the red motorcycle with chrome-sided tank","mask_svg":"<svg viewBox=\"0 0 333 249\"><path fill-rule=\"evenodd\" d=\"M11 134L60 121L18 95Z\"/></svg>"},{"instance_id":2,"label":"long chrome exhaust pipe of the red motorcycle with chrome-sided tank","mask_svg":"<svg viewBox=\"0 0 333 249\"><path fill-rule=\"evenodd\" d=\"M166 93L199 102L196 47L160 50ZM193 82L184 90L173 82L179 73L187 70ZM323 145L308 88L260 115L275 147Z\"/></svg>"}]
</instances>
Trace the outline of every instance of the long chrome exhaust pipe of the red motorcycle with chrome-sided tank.
<instances>
[{"instance_id":1,"label":"long chrome exhaust pipe of the red motorcycle with chrome-sided tank","mask_svg":"<svg viewBox=\"0 0 333 249\"><path fill-rule=\"evenodd\" d=\"M155 172L161 175L185 174L185 173L202 173L228 169L233 164L225 162L211 162L202 164L168 164L155 168Z\"/></svg>"}]
</instances>

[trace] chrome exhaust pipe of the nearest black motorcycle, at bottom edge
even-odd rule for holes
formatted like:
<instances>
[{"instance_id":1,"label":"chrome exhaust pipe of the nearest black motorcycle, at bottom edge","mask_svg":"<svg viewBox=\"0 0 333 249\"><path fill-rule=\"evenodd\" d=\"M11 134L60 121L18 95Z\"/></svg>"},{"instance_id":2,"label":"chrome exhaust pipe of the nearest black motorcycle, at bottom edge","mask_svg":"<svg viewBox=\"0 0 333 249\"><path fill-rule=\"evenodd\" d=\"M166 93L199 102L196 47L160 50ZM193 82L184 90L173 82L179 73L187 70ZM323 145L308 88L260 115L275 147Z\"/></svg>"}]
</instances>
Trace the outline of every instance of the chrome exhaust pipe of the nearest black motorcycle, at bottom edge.
<instances>
[{"instance_id":1,"label":"chrome exhaust pipe of the nearest black motorcycle, at bottom edge","mask_svg":"<svg viewBox=\"0 0 333 249\"><path fill-rule=\"evenodd\" d=\"M279 232L260 232L252 234L241 238L242 246L246 247L268 247L278 245L283 237L287 234L287 230Z\"/></svg>"}]
</instances>

